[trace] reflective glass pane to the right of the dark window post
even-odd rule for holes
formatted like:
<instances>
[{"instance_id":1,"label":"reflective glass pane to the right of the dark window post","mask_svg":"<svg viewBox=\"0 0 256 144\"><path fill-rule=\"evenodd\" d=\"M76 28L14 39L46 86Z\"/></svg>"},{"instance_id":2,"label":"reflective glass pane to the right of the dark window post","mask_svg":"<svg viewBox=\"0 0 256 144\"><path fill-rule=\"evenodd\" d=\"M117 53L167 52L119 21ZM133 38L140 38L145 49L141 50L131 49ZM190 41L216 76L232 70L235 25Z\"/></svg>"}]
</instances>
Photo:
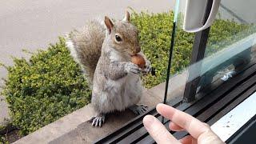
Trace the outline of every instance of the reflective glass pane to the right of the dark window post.
<instances>
[{"instance_id":1,"label":"reflective glass pane to the right of the dark window post","mask_svg":"<svg viewBox=\"0 0 256 144\"><path fill-rule=\"evenodd\" d=\"M215 59L203 64L202 70L207 72L203 72L206 74L201 79L201 86L218 78L226 81L252 63L256 25L255 16L250 14L255 4L254 1L238 0L221 2L218 17L210 27L205 54Z\"/></svg>"}]
</instances>

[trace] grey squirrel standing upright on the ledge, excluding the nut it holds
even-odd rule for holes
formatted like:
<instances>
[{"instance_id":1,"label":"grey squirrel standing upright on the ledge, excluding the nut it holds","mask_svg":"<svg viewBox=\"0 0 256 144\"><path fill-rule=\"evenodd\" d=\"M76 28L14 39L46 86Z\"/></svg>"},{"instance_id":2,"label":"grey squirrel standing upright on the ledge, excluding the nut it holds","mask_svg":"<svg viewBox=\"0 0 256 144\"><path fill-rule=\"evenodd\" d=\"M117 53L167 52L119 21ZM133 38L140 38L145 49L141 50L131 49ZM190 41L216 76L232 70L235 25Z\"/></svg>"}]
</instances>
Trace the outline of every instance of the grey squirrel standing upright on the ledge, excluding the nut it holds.
<instances>
[{"instance_id":1,"label":"grey squirrel standing upright on the ledge, excluding the nut it holds","mask_svg":"<svg viewBox=\"0 0 256 144\"><path fill-rule=\"evenodd\" d=\"M71 56L82 66L92 87L91 103L97 113L88 121L92 126L102 126L106 114L114 110L130 108L135 114L147 110L136 104L143 90L139 74L149 73L151 66L142 54L138 30L130 23L128 11L122 21L105 17L104 22L86 22L82 30L73 30L66 39ZM145 69L130 62L134 54L146 60Z\"/></svg>"}]
</instances>

